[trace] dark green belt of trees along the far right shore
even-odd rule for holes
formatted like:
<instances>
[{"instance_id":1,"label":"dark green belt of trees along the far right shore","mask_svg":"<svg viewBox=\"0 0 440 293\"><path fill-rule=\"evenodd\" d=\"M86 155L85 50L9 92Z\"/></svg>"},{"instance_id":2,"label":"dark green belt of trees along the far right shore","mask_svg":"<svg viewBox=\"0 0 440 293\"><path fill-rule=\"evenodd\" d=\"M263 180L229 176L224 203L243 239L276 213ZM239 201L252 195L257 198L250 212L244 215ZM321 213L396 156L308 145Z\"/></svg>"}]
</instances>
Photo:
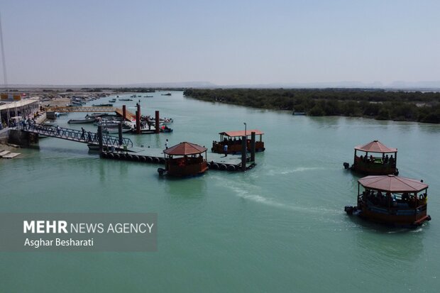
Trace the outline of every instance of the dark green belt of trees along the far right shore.
<instances>
[{"instance_id":1,"label":"dark green belt of trees along the far right shore","mask_svg":"<svg viewBox=\"0 0 440 293\"><path fill-rule=\"evenodd\" d=\"M383 89L186 89L202 101L260 109L306 112L309 116L352 116L440 123L439 92Z\"/></svg>"}]
</instances>

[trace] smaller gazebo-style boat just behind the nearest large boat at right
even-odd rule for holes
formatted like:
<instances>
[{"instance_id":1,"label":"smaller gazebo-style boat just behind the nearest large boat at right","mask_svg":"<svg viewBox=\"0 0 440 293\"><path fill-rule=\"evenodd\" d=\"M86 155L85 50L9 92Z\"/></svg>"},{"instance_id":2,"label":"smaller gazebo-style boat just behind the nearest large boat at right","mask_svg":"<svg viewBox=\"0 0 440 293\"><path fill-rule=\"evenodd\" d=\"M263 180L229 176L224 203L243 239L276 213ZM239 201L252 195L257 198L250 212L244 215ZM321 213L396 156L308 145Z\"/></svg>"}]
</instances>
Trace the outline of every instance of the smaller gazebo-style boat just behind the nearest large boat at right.
<instances>
[{"instance_id":1,"label":"smaller gazebo-style boat just behind the nearest large boat at right","mask_svg":"<svg viewBox=\"0 0 440 293\"><path fill-rule=\"evenodd\" d=\"M358 156L358 151L363 155ZM394 154L388 157L388 154ZM380 154L378 156L378 154ZM368 157L368 155L370 155ZM397 148L388 148L380 143L379 140L373 140L365 145L358 145L354 148L353 165L344 162L346 169L351 169L365 175L399 175L397 165Z\"/></svg>"}]
</instances>

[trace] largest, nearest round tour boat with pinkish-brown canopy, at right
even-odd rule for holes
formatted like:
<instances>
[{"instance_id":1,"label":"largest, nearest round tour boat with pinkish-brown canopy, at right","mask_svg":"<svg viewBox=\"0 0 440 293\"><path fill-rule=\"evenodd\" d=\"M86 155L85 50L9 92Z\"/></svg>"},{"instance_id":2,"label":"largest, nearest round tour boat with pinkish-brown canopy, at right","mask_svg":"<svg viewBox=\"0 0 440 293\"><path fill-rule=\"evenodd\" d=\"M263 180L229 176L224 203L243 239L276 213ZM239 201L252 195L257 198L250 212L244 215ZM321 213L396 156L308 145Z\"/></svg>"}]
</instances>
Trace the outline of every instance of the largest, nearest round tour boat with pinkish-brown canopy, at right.
<instances>
[{"instance_id":1,"label":"largest, nearest round tour boat with pinkish-brown canopy, at right","mask_svg":"<svg viewBox=\"0 0 440 293\"><path fill-rule=\"evenodd\" d=\"M345 206L347 214L392 226L417 227L430 221L423 181L395 175L358 179L358 205Z\"/></svg>"}]
</instances>

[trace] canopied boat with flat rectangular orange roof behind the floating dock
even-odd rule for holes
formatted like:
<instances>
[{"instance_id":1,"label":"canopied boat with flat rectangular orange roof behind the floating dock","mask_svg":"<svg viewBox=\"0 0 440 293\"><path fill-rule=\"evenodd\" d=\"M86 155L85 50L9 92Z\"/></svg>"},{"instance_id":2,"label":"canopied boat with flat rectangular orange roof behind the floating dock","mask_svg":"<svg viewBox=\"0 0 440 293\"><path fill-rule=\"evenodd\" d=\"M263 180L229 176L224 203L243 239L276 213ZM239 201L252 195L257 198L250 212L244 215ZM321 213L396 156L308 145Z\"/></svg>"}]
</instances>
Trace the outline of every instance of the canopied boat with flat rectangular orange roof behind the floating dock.
<instances>
[{"instance_id":1,"label":"canopied boat with flat rectangular orange roof behind the floating dock","mask_svg":"<svg viewBox=\"0 0 440 293\"><path fill-rule=\"evenodd\" d=\"M249 131L224 131L219 133L220 140L212 142L211 151L213 153L225 153L224 146L228 145L229 154L241 153L241 138L246 136L246 145L249 152L251 152L251 140L249 137L255 132L255 136L260 136L258 141L255 141L255 152L263 152L265 150L263 142L263 132L258 129Z\"/></svg>"}]
</instances>

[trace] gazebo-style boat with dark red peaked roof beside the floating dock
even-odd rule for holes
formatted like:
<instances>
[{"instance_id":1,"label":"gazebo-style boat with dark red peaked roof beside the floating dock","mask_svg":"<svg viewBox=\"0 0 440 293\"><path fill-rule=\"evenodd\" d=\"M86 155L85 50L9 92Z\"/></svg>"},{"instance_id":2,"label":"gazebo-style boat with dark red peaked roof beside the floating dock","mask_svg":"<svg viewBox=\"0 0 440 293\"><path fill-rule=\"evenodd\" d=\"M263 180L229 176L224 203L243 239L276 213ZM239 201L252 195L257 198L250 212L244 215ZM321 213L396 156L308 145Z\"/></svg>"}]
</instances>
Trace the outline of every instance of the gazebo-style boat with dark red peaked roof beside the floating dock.
<instances>
[{"instance_id":1,"label":"gazebo-style boat with dark red peaked roof beside the floating dock","mask_svg":"<svg viewBox=\"0 0 440 293\"><path fill-rule=\"evenodd\" d=\"M207 148L200 145L179 143L163 150L163 153L165 153L165 169L158 169L160 175L193 177L202 175L208 170Z\"/></svg>"}]
</instances>

